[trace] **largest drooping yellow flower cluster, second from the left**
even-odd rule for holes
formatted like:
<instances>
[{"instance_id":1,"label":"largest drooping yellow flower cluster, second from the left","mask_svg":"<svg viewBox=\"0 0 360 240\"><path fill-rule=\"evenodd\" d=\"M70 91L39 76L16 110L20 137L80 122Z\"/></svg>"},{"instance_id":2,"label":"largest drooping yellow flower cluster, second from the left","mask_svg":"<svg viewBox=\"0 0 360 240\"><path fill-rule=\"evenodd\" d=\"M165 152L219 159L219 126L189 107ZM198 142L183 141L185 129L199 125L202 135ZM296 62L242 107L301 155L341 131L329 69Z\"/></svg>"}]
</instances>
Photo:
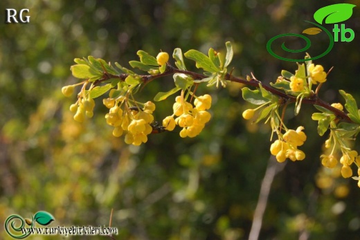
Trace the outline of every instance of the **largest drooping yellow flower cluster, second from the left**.
<instances>
[{"instance_id":1,"label":"largest drooping yellow flower cluster, second from the left","mask_svg":"<svg viewBox=\"0 0 360 240\"><path fill-rule=\"evenodd\" d=\"M112 98L104 99L103 104L109 108L105 115L107 124L114 127L113 135L120 137L125 131L125 142L132 145L141 145L147 142L147 135L152 133L150 123L154 121L152 112L155 110L153 102L146 102L144 109L123 111Z\"/></svg>"}]
</instances>

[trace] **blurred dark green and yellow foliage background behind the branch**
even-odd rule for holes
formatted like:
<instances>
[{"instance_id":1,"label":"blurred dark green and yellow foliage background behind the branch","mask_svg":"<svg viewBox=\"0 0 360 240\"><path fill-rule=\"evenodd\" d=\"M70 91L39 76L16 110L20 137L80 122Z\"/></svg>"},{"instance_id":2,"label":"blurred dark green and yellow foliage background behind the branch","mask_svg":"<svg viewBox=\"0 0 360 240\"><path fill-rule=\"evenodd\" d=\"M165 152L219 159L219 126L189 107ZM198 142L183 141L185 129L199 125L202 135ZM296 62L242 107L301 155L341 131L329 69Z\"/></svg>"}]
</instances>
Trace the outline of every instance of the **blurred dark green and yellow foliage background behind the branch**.
<instances>
[{"instance_id":1,"label":"blurred dark green and yellow foliage background behind the branch","mask_svg":"<svg viewBox=\"0 0 360 240\"><path fill-rule=\"evenodd\" d=\"M358 4L358 1L345 1ZM301 33L314 12L337 1L1 1L0 2L0 238L10 214L30 218L39 210L55 217L52 225L109 225L116 239L247 239L260 185L269 163L269 126L242 119L250 106L241 86L206 89L213 95L212 120L200 136L177 133L150 136L141 147L111 135L96 100L95 116L85 124L73 120L73 98L61 88L76 82L69 68L75 57L101 57L129 67L136 51L152 55L191 48L224 51L232 41L233 75L251 72L263 82L276 80L296 64L267 52L266 43L282 33ZM28 8L29 24L5 24L5 9ZM360 10L345 22L354 41L336 42L318 59L334 66L321 98L342 101L338 89L359 94ZM330 31L332 26L326 26ZM315 37L313 39L316 39ZM316 55L327 40L312 42ZM302 56L300 56L302 57ZM197 71L194 64L188 68ZM138 94L152 100L172 88L172 78L156 80ZM155 118L172 112L173 99L156 104ZM288 162L276 175L264 213L260 239L357 239L360 190L356 181L328 172L319 156L319 137L304 106L288 127L305 126L307 158ZM354 149L360 151L359 142ZM28 239L60 239L32 236ZM109 239L109 237L69 237Z\"/></svg>"}]
</instances>

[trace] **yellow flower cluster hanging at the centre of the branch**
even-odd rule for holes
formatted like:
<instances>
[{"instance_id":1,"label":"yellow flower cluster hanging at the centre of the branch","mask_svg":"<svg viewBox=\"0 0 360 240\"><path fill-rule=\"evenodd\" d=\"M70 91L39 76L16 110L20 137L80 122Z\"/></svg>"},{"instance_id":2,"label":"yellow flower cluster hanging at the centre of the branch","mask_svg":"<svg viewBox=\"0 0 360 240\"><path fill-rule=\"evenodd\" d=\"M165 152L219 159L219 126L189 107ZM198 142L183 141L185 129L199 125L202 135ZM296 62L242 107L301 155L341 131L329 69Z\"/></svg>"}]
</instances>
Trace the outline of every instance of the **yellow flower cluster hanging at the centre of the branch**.
<instances>
[{"instance_id":1,"label":"yellow flower cluster hanging at the centre of the branch","mask_svg":"<svg viewBox=\"0 0 360 240\"><path fill-rule=\"evenodd\" d=\"M211 107L211 96L208 94L195 98L195 107L186 102L183 95L175 98L172 107L174 113L163 120L163 126L166 130L172 131L175 125L182 127L180 131L181 138L194 138L204 129L206 122L211 118L208 109ZM177 116L177 118L174 118Z\"/></svg>"}]
</instances>

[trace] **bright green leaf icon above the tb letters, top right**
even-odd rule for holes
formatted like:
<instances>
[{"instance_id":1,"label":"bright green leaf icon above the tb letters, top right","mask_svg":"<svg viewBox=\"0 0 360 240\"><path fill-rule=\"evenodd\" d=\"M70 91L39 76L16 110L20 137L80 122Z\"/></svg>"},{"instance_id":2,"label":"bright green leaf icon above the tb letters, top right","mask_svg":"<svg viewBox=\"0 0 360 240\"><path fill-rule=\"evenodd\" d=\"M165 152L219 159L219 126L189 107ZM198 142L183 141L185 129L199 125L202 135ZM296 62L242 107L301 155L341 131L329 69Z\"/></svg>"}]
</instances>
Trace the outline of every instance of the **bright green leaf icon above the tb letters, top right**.
<instances>
[{"instance_id":1,"label":"bright green leaf icon above the tb letters, top right","mask_svg":"<svg viewBox=\"0 0 360 240\"><path fill-rule=\"evenodd\" d=\"M319 24L336 24L341 21L350 19L352 15L352 8L356 5L350 3L337 3L323 8L320 8L314 13L314 19Z\"/></svg>"}]
</instances>

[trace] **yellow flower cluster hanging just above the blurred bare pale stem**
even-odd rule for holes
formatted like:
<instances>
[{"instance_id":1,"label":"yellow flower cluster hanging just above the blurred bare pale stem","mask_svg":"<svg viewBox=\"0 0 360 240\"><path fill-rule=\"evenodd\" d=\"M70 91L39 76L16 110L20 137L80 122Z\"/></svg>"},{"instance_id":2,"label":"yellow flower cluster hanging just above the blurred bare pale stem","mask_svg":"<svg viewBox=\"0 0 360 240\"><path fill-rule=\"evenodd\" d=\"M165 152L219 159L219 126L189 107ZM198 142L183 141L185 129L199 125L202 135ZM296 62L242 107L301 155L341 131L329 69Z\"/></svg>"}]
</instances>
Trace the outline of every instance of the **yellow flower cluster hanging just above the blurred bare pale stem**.
<instances>
[{"instance_id":1,"label":"yellow flower cluster hanging just above the blurred bare pale stem","mask_svg":"<svg viewBox=\"0 0 360 240\"><path fill-rule=\"evenodd\" d=\"M303 132L304 127L298 129L289 129L283 136L282 140L276 140L270 147L270 152L276 156L276 160L282 163L289 158L292 161L303 160L305 153L298 149L298 146L304 144L306 135Z\"/></svg>"}]
</instances>

